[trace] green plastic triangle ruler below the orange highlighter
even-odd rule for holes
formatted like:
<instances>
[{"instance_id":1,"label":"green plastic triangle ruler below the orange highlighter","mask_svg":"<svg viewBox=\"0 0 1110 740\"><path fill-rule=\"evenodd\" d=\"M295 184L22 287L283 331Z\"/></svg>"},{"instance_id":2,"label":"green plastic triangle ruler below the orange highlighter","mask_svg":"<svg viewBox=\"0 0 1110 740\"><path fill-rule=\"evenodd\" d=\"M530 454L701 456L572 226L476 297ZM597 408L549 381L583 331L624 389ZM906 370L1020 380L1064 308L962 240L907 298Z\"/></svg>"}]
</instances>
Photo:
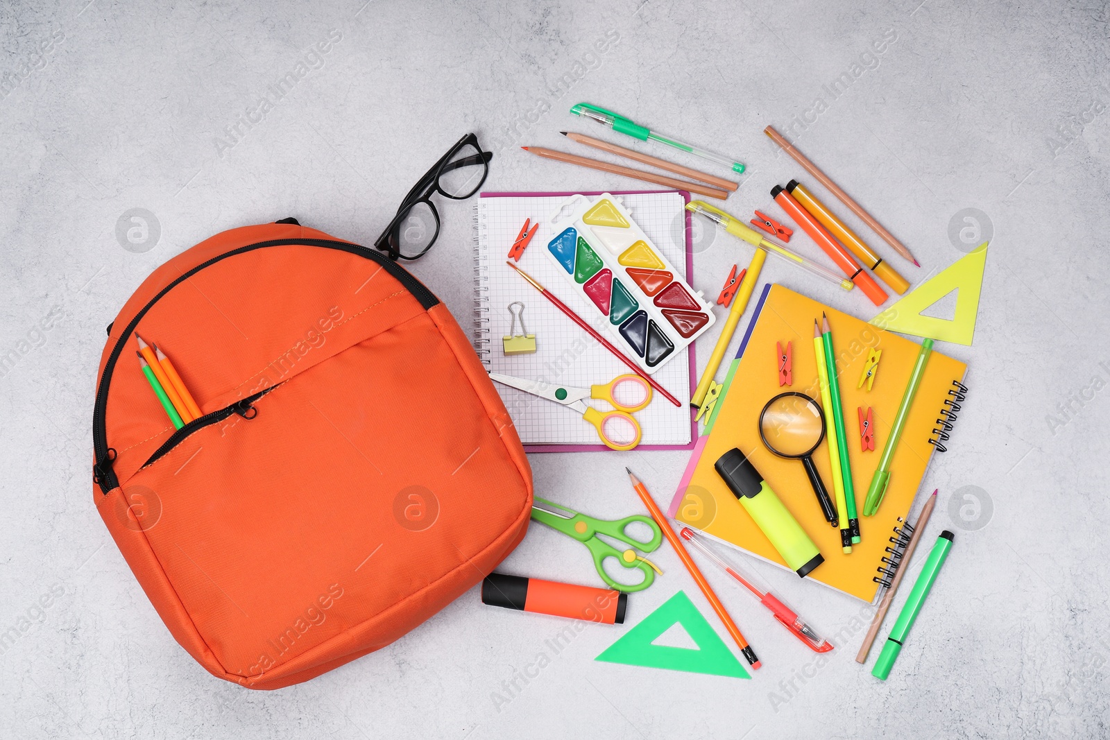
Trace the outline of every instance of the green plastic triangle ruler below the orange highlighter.
<instances>
[{"instance_id":1,"label":"green plastic triangle ruler below the orange highlighter","mask_svg":"<svg viewBox=\"0 0 1110 740\"><path fill-rule=\"evenodd\" d=\"M697 649L652 645L653 640L676 624L682 625L698 646ZM689 673L751 678L685 591L670 597L594 660Z\"/></svg>"}]
</instances>

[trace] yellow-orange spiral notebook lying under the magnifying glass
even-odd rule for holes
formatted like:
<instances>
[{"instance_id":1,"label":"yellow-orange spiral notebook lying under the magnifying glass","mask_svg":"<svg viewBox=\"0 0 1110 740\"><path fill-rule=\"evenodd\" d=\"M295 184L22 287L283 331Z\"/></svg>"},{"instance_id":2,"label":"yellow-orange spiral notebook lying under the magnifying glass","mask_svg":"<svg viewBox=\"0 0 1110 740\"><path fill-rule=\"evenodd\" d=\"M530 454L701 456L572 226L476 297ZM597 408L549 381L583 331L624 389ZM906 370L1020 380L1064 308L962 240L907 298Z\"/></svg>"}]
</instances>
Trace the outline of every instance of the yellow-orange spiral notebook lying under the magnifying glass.
<instances>
[{"instance_id":1,"label":"yellow-orange spiral notebook lying under the magnifying glass","mask_svg":"<svg viewBox=\"0 0 1110 740\"><path fill-rule=\"evenodd\" d=\"M814 320L825 312L833 330L834 349L845 433L856 488L861 541L850 554L840 549L839 529L829 526L814 496L800 460L771 454L759 438L759 412L773 396L786 391L805 393L820 404L814 353ZM776 342L793 343L793 383L779 387ZM944 452L951 423L966 388L967 365L934 352L929 357L917 396L910 408L901 439L890 465L890 485L875 516L862 516L864 499L887 434L901 403L906 383L920 346L916 342L877 328L864 321L829 308L781 285L767 285L756 306L725 388L717 401L705 435L698 439L683 475L669 516L712 537L735 545L751 555L786 564L755 521L714 469L714 463L733 447L748 456L764 479L778 494L803 529L817 545L825 562L807 578L818 580L865 601L872 601L887 576L888 547L894 547L934 450ZM881 351L871 391L857 387L868 349ZM860 450L857 407L874 409L875 450ZM814 462L833 494L828 442L814 453ZM891 539L894 538L894 539Z\"/></svg>"}]
</instances>

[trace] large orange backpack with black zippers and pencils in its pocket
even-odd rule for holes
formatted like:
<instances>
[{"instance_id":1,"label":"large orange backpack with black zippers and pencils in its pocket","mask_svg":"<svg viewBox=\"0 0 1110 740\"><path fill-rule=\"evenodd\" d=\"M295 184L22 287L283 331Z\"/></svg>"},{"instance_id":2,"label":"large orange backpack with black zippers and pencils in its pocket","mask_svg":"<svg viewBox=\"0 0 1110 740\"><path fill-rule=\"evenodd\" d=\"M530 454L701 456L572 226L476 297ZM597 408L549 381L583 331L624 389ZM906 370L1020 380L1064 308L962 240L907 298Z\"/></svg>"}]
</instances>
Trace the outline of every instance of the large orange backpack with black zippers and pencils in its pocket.
<instances>
[{"instance_id":1,"label":"large orange backpack with black zippers and pencils in its pocket","mask_svg":"<svg viewBox=\"0 0 1110 740\"><path fill-rule=\"evenodd\" d=\"M138 332L202 416L174 430ZM276 689L396 640L524 537L532 474L447 308L377 252L293 220L148 277L109 326L100 516L173 637Z\"/></svg>"}]
</instances>

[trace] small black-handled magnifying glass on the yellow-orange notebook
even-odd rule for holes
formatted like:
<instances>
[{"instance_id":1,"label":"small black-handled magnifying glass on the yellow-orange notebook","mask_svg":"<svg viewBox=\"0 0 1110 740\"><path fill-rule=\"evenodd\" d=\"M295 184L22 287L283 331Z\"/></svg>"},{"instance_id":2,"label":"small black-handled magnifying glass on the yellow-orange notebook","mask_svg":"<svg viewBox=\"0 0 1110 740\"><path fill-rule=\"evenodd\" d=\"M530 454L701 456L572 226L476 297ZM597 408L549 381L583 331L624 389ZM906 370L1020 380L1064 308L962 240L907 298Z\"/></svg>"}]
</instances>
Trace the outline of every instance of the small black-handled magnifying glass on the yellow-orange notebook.
<instances>
[{"instance_id":1,"label":"small black-handled magnifying glass on the yellow-orange notebook","mask_svg":"<svg viewBox=\"0 0 1110 740\"><path fill-rule=\"evenodd\" d=\"M825 438L825 414L820 405L804 393L780 393L759 413L759 436L767 449L779 457L801 460L821 514L836 527L836 507L813 458L814 450Z\"/></svg>"}]
</instances>

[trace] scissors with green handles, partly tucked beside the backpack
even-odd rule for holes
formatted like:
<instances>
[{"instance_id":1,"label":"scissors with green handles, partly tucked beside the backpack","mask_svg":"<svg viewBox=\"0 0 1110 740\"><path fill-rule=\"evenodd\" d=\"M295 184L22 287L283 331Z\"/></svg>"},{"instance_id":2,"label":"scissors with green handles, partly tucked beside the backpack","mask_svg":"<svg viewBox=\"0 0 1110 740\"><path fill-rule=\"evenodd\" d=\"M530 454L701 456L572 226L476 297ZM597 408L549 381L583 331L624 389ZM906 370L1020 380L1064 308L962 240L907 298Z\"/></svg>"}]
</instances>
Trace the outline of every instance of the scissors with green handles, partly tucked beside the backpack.
<instances>
[{"instance_id":1,"label":"scissors with green handles, partly tucked beside the backpack","mask_svg":"<svg viewBox=\"0 0 1110 740\"><path fill-rule=\"evenodd\" d=\"M598 535L605 535L606 537L612 537L613 539L625 543L626 545L632 545L636 549L645 553L652 553L663 543L663 531L659 530L659 525L655 524L650 517L636 514L615 521L595 519L593 517L587 517L585 514L578 514L577 511L568 509L565 506L559 506L558 504L553 504L552 501L535 497L532 499L532 518L553 529L559 530L564 535L574 537L589 548L591 555L594 556L594 567L597 568L597 575L602 577L602 580L604 580L609 588L615 588L618 591L625 592L642 591L652 585L652 581L655 580L656 572L660 575L663 574L663 571L659 570L654 562L645 557L636 555L636 550L630 548L624 551L618 550L597 537ZM652 539L645 543L625 534L625 528L633 521L646 524L652 529ZM607 558L616 558L617 561L625 568L638 568L644 574L644 580L638 584L633 584L632 586L613 580L613 578L605 572L605 560Z\"/></svg>"}]
</instances>

